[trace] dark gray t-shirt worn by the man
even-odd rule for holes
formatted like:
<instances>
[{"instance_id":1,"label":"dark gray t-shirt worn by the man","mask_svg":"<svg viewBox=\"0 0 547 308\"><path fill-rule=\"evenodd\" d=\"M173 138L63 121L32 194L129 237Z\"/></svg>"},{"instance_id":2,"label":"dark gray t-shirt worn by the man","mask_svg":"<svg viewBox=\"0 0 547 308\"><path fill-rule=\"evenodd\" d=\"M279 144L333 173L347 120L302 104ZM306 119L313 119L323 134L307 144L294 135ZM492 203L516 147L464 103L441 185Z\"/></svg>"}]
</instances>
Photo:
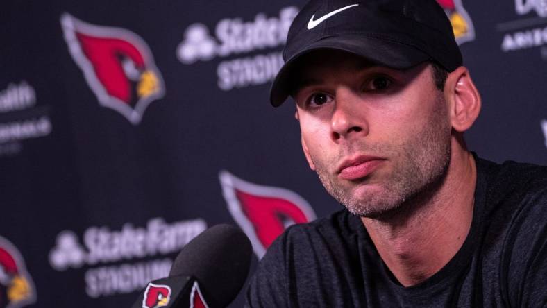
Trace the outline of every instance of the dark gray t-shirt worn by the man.
<instances>
[{"instance_id":1,"label":"dark gray t-shirt worn by the man","mask_svg":"<svg viewBox=\"0 0 547 308\"><path fill-rule=\"evenodd\" d=\"M471 230L444 268L401 286L357 216L294 225L269 248L250 307L547 307L547 167L476 158Z\"/></svg>"}]
</instances>

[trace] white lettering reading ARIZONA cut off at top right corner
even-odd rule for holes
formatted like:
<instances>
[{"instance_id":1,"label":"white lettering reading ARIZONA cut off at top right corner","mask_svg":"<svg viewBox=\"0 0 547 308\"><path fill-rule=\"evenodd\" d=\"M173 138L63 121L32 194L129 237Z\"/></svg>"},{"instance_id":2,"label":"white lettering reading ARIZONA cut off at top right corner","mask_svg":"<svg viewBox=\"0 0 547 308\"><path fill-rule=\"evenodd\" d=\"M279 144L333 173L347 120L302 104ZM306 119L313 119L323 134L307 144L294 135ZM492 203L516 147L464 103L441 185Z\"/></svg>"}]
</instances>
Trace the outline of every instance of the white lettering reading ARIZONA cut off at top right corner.
<instances>
[{"instance_id":1,"label":"white lettering reading ARIZONA cut off at top right corner","mask_svg":"<svg viewBox=\"0 0 547 308\"><path fill-rule=\"evenodd\" d=\"M515 13L522 17L496 26L498 31L505 33L501 51L510 53L538 48L541 58L547 60L547 0L514 1ZM524 16L532 12L537 17Z\"/></svg>"}]
</instances>

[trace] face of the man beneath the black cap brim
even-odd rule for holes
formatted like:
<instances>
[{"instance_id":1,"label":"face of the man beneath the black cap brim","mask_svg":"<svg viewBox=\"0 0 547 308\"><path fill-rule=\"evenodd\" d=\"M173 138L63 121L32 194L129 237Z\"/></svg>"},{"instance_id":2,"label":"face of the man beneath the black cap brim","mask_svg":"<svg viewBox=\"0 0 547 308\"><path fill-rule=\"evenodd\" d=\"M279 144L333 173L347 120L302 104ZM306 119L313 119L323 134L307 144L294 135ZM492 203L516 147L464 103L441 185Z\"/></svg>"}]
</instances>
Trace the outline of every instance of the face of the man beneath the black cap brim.
<instances>
[{"instance_id":1,"label":"face of the man beneath the black cap brim","mask_svg":"<svg viewBox=\"0 0 547 308\"><path fill-rule=\"evenodd\" d=\"M303 148L327 191L378 217L441 182L451 124L430 65L398 71L338 51L295 69Z\"/></svg>"}]
</instances>

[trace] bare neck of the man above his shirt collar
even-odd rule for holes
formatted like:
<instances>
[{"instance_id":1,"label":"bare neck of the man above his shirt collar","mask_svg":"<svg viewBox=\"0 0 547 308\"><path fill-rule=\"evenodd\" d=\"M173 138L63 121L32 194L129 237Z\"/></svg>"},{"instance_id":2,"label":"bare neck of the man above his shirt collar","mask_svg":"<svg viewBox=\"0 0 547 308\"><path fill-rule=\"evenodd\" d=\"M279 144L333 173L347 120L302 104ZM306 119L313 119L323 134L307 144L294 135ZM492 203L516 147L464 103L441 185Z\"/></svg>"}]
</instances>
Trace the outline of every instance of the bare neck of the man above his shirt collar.
<instances>
[{"instance_id":1,"label":"bare neck of the man above his shirt collar","mask_svg":"<svg viewBox=\"0 0 547 308\"><path fill-rule=\"evenodd\" d=\"M476 174L471 153L456 152L432 194L405 205L400 215L362 218L380 257L403 286L428 279L462 247L473 220Z\"/></svg>"}]
</instances>

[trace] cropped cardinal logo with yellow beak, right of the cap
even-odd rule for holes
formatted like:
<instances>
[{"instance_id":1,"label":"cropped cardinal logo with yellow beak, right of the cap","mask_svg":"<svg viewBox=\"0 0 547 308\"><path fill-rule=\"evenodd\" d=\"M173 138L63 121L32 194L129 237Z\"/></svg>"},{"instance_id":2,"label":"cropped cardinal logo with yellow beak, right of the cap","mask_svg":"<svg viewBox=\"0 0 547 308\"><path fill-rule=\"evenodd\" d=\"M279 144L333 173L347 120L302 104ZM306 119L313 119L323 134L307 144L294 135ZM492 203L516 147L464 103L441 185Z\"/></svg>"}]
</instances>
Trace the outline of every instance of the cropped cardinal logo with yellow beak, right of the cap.
<instances>
[{"instance_id":1,"label":"cropped cardinal logo with yellow beak, right of the cap","mask_svg":"<svg viewBox=\"0 0 547 308\"><path fill-rule=\"evenodd\" d=\"M448 15L457 44L475 39L475 28L469 14L462 6L462 0L437 0Z\"/></svg>"}]
</instances>

